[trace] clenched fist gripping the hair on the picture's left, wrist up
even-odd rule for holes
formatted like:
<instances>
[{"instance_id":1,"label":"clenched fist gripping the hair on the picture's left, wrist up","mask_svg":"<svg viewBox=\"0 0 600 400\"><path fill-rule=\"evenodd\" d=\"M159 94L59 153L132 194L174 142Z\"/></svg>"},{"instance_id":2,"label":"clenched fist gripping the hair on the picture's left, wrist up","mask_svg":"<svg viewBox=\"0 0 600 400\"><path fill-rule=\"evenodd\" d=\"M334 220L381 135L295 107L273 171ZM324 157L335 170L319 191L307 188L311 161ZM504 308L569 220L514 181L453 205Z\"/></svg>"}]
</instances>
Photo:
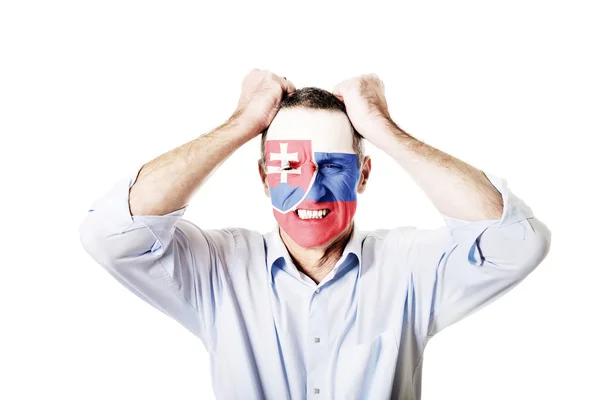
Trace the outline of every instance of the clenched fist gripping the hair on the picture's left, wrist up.
<instances>
[{"instance_id":1,"label":"clenched fist gripping the hair on the picture's left, wrist up","mask_svg":"<svg viewBox=\"0 0 600 400\"><path fill-rule=\"evenodd\" d=\"M294 84L286 78L254 68L244 77L234 115L253 124L258 134L268 128L277 115L283 95L295 90Z\"/></svg>"}]
</instances>

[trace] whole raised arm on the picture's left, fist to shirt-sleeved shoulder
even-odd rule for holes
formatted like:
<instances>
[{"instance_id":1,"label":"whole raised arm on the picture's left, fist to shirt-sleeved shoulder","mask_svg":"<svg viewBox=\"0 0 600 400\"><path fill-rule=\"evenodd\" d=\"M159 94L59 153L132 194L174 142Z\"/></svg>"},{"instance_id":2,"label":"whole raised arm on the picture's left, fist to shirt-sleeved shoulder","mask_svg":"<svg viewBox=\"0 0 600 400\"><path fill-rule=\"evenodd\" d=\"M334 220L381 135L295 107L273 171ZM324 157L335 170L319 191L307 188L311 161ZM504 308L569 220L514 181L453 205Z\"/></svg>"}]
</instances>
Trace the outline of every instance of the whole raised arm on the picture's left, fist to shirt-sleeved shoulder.
<instances>
[{"instance_id":1,"label":"whole raised arm on the picture's left, fist to shirt-sleeved shoulder","mask_svg":"<svg viewBox=\"0 0 600 400\"><path fill-rule=\"evenodd\" d=\"M252 70L238 108L212 132L171 150L119 180L79 227L90 256L123 286L172 317L205 345L214 299L235 251L228 230L201 230L181 217L195 190L229 155L258 135L292 83Z\"/></svg>"}]
</instances>

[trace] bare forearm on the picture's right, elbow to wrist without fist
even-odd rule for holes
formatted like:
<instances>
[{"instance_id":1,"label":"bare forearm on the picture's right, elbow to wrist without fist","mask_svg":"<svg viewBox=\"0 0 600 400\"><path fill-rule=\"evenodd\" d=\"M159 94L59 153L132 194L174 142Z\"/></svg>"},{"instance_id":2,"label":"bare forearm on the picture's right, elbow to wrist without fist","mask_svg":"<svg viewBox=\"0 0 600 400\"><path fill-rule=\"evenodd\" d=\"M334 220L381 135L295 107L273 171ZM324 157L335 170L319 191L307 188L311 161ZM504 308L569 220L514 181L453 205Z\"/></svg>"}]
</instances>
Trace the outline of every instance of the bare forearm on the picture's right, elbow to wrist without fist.
<instances>
[{"instance_id":1,"label":"bare forearm on the picture's right, elbow to wrist without fist","mask_svg":"<svg viewBox=\"0 0 600 400\"><path fill-rule=\"evenodd\" d=\"M378 147L394 158L449 217L481 221L502 216L502 195L485 174L443 151L423 143L387 122Z\"/></svg>"}]
</instances>

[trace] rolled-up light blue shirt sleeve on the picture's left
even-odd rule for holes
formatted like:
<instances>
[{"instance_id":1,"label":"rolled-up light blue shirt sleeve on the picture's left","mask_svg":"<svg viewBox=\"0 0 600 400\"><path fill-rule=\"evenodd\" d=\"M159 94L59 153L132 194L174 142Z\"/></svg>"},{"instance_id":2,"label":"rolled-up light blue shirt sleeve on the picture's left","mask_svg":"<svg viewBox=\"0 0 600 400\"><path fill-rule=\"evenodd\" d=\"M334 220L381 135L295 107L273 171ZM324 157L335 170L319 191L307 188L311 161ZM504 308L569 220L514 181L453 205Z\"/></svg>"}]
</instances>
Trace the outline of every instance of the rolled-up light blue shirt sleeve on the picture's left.
<instances>
[{"instance_id":1,"label":"rolled-up light blue shirt sleeve on the picture's left","mask_svg":"<svg viewBox=\"0 0 600 400\"><path fill-rule=\"evenodd\" d=\"M132 216L129 189L140 170L124 176L92 204L79 227L81 244L123 286L204 340L198 271L177 227L186 207L166 215ZM197 246L210 253L206 242Z\"/></svg>"}]
</instances>

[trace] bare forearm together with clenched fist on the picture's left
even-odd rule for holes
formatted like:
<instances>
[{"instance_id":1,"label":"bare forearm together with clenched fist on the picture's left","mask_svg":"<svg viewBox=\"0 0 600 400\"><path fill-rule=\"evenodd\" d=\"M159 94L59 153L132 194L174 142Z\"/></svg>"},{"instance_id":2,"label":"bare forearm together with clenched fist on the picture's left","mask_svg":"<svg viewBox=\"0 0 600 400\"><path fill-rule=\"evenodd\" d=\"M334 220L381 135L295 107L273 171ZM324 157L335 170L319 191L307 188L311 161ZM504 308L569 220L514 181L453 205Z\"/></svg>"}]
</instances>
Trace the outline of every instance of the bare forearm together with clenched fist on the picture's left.
<instances>
[{"instance_id":1,"label":"bare forearm together with clenched fist on the picture's left","mask_svg":"<svg viewBox=\"0 0 600 400\"><path fill-rule=\"evenodd\" d=\"M215 168L269 126L283 93L294 90L286 79L252 70L242 83L238 109L227 122L142 167L131 188L131 214L164 215L187 206Z\"/></svg>"}]
</instances>

